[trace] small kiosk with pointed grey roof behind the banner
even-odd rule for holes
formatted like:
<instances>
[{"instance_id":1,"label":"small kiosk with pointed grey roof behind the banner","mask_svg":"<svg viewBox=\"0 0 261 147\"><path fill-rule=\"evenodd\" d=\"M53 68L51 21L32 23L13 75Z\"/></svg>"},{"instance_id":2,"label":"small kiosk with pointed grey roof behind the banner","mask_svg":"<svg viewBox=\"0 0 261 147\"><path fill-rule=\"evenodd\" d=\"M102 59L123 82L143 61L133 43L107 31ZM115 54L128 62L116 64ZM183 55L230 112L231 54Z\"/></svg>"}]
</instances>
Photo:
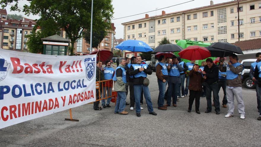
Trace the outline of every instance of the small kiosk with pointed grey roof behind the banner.
<instances>
[{"instance_id":1,"label":"small kiosk with pointed grey roof behind the banner","mask_svg":"<svg viewBox=\"0 0 261 147\"><path fill-rule=\"evenodd\" d=\"M70 40L57 34L41 39L46 55L67 55Z\"/></svg>"}]
</instances>

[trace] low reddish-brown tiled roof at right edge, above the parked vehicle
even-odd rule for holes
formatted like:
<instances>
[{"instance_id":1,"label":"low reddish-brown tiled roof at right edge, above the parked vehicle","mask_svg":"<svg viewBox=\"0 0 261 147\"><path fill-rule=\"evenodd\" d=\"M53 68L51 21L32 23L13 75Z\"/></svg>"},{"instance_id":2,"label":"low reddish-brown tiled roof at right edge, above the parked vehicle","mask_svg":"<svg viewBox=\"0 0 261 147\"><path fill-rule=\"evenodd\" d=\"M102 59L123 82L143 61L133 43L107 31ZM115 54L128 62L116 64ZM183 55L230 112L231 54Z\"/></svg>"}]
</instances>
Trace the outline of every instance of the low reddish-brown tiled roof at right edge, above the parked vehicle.
<instances>
[{"instance_id":1,"label":"low reddish-brown tiled roof at right edge, above the parked vehicle","mask_svg":"<svg viewBox=\"0 0 261 147\"><path fill-rule=\"evenodd\" d=\"M261 49L261 38L237 41L234 45L241 48L241 50Z\"/></svg>"}]
</instances>

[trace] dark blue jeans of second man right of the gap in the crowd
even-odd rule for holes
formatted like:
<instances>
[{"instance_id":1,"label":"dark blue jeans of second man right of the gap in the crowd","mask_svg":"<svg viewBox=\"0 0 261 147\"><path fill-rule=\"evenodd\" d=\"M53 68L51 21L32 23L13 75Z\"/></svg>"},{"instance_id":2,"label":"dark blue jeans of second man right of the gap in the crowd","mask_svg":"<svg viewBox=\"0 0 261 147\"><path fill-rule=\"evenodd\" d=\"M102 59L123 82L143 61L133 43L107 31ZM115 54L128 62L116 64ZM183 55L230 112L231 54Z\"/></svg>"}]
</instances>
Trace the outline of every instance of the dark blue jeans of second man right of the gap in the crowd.
<instances>
[{"instance_id":1,"label":"dark blue jeans of second man right of the gap in the crowd","mask_svg":"<svg viewBox=\"0 0 261 147\"><path fill-rule=\"evenodd\" d=\"M171 105L171 97L173 99L172 104L177 104L179 84L180 83L168 82L169 89L168 89L167 105Z\"/></svg>"}]
</instances>

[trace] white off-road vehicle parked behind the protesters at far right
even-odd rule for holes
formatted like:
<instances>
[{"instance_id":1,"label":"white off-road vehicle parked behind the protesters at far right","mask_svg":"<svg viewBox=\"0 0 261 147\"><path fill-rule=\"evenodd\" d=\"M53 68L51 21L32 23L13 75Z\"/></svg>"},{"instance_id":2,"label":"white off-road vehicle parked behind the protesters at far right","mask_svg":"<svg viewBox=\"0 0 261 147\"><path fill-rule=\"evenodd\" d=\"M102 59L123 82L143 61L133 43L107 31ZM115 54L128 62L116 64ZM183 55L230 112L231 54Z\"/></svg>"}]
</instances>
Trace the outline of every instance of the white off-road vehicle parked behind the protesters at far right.
<instances>
[{"instance_id":1,"label":"white off-road vehicle parked behind the protesters at far right","mask_svg":"<svg viewBox=\"0 0 261 147\"><path fill-rule=\"evenodd\" d=\"M249 88L249 89L254 89L256 87L252 78L249 77L251 64L255 61L257 61L257 59L246 59L246 60L241 61L241 64L244 65L244 70L241 74L242 75L242 83L243 83L244 86L246 86L246 88Z\"/></svg>"}]
</instances>

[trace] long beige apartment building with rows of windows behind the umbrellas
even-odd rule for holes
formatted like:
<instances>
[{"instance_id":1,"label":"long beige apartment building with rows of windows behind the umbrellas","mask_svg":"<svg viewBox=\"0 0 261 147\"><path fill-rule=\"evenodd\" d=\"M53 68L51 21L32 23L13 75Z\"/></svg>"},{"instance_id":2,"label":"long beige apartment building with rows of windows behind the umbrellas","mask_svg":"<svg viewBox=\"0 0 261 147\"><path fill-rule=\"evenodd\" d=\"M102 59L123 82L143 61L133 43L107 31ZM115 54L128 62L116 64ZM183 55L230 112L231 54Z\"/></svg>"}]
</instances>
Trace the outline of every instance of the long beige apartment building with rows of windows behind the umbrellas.
<instances>
[{"instance_id":1,"label":"long beige apartment building with rows of windows behind the umbrellas","mask_svg":"<svg viewBox=\"0 0 261 147\"><path fill-rule=\"evenodd\" d=\"M163 37L172 43L179 39L203 42L238 41L237 1L213 4L178 12L165 13L122 23L124 40L136 39L152 48ZM239 39L261 37L261 0L239 0ZM126 51L129 58L133 53Z\"/></svg>"}]
</instances>

